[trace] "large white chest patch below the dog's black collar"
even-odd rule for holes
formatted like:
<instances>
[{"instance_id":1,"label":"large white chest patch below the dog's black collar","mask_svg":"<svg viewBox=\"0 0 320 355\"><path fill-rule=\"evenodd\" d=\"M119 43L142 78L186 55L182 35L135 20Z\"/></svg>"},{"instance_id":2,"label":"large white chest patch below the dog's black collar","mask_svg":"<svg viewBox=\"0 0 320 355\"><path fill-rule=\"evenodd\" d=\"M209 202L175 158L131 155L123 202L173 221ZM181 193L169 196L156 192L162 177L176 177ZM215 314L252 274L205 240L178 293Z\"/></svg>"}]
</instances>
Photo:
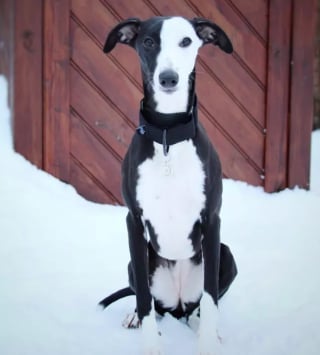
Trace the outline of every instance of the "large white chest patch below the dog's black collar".
<instances>
[{"instance_id":1,"label":"large white chest patch below the dog's black collar","mask_svg":"<svg viewBox=\"0 0 320 355\"><path fill-rule=\"evenodd\" d=\"M155 154L138 168L137 200L157 236L158 254L171 260L193 256L189 238L205 204L205 174L192 141L170 147L154 143Z\"/></svg>"}]
</instances>

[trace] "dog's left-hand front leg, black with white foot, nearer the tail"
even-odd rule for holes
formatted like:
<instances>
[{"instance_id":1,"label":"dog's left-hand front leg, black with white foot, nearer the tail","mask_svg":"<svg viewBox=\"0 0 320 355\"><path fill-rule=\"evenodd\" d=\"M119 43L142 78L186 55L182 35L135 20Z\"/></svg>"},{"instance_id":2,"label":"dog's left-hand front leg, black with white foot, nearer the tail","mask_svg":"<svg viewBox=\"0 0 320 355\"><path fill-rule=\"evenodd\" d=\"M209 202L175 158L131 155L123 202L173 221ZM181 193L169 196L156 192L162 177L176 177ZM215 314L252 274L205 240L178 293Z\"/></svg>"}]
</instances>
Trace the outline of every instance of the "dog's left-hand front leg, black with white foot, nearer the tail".
<instances>
[{"instance_id":1,"label":"dog's left-hand front leg, black with white foot, nearer the tail","mask_svg":"<svg viewBox=\"0 0 320 355\"><path fill-rule=\"evenodd\" d=\"M155 311L149 288L148 243L140 216L128 213L127 228L133 281L137 299L137 313L141 322L145 355L161 355Z\"/></svg>"}]
</instances>

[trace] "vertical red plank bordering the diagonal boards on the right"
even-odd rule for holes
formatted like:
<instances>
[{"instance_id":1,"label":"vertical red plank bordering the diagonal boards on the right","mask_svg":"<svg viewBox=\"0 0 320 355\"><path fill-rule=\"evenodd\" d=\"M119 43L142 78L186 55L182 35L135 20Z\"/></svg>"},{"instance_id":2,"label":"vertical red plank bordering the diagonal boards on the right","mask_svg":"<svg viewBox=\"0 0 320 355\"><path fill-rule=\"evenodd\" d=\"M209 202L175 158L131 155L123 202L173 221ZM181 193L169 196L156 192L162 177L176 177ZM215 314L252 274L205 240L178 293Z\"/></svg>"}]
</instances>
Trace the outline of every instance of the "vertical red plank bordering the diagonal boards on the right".
<instances>
[{"instance_id":1,"label":"vertical red plank bordering the diagonal boards on the right","mask_svg":"<svg viewBox=\"0 0 320 355\"><path fill-rule=\"evenodd\" d=\"M287 183L291 0L270 0L266 105L265 185L279 191Z\"/></svg>"}]
</instances>

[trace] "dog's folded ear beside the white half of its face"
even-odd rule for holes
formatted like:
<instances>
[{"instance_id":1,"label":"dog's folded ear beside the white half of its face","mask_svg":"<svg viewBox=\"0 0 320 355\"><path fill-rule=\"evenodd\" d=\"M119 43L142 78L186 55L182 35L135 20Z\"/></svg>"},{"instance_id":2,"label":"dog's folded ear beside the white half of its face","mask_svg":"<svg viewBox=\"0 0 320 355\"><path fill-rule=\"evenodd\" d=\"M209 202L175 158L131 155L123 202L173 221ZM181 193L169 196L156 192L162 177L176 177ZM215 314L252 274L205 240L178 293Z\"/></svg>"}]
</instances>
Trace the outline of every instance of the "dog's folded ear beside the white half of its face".
<instances>
[{"instance_id":1,"label":"dog's folded ear beside the white half of its face","mask_svg":"<svg viewBox=\"0 0 320 355\"><path fill-rule=\"evenodd\" d=\"M218 25L203 18L193 19L192 24L197 35L203 40L203 44L212 43L226 53L233 52L230 39Z\"/></svg>"}]
</instances>

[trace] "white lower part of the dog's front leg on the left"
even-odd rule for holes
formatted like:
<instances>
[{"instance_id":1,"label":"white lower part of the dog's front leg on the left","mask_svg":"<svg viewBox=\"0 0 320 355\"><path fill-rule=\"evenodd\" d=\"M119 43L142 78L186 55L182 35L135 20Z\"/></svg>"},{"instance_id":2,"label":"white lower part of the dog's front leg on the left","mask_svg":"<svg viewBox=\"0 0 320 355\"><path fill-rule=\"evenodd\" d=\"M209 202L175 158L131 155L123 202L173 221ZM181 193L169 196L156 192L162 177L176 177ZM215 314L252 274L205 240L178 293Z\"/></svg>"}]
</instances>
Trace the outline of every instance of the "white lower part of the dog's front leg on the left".
<instances>
[{"instance_id":1,"label":"white lower part of the dog's front leg on the left","mask_svg":"<svg viewBox=\"0 0 320 355\"><path fill-rule=\"evenodd\" d=\"M160 336L158 332L155 311L152 308L150 314L143 318L142 325L142 341L144 355L162 355L160 346Z\"/></svg>"}]
</instances>

